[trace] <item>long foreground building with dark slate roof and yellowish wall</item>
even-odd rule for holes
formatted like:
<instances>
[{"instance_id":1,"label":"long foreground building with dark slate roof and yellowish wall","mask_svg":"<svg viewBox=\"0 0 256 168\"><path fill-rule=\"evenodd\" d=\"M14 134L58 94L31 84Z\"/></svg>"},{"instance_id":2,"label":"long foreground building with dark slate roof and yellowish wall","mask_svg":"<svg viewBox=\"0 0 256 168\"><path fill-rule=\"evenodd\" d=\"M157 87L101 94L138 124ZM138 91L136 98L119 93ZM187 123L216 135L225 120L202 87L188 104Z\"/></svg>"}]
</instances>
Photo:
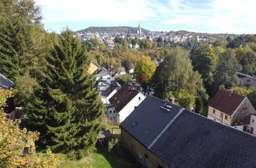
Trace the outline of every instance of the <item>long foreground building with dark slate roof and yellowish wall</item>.
<instances>
[{"instance_id":1,"label":"long foreground building with dark slate roof and yellowish wall","mask_svg":"<svg viewBox=\"0 0 256 168\"><path fill-rule=\"evenodd\" d=\"M256 138L148 96L120 125L143 167L255 167Z\"/></svg>"}]
</instances>

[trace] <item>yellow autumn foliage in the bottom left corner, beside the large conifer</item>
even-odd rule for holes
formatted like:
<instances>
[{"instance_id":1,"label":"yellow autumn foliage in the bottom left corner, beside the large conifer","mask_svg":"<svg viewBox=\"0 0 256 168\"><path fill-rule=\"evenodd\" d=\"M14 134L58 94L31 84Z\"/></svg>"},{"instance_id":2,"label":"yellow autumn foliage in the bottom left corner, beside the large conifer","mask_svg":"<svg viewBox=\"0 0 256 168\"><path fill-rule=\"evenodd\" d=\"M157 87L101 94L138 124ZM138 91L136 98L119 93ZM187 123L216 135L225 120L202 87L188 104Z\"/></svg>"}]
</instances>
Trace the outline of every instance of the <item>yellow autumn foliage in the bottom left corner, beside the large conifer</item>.
<instances>
[{"instance_id":1,"label":"yellow autumn foliage in the bottom left corner, beside the large conifer","mask_svg":"<svg viewBox=\"0 0 256 168\"><path fill-rule=\"evenodd\" d=\"M0 107L5 106L6 98L11 93L9 90L0 90ZM18 121L6 118L0 109L0 167L55 167L59 159L56 154L47 150L45 154L35 153L34 142L38 139L37 132L30 132L18 127ZM29 154L24 154L24 149L31 149Z\"/></svg>"}]
</instances>

